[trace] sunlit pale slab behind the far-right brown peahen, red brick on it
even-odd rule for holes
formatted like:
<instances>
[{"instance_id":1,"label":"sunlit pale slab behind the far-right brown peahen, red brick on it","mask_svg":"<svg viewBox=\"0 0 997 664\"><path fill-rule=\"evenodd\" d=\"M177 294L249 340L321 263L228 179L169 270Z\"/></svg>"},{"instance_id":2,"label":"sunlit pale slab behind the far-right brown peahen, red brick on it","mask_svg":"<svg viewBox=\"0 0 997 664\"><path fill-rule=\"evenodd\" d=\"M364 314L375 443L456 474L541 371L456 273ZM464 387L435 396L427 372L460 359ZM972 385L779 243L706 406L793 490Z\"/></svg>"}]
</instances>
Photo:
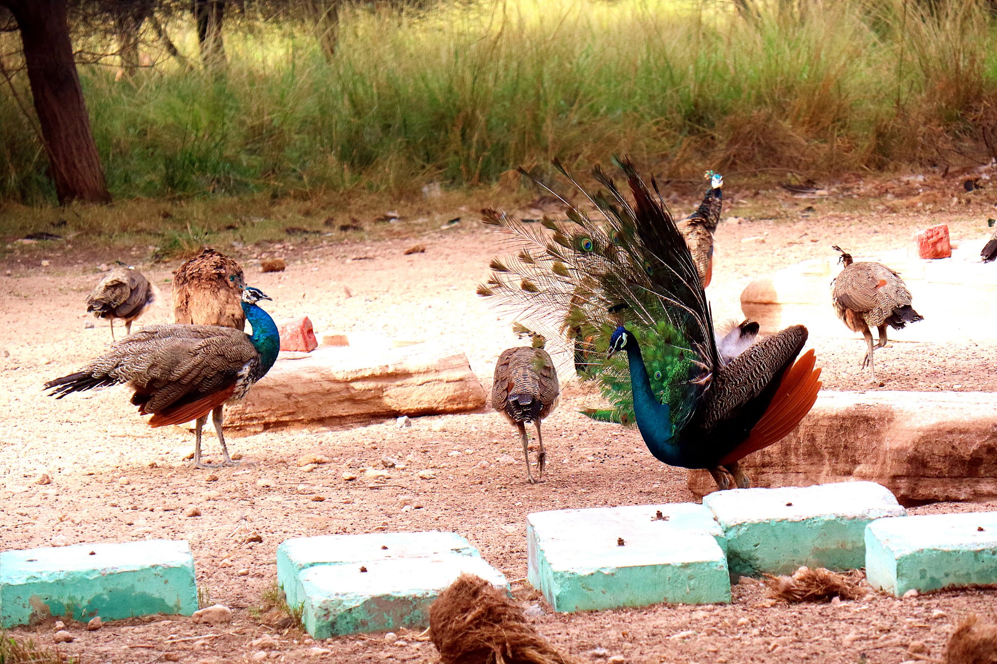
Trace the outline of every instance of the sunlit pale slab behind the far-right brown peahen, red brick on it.
<instances>
[{"instance_id":1,"label":"sunlit pale slab behind the far-right brown peahen, red brick on it","mask_svg":"<svg viewBox=\"0 0 997 664\"><path fill-rule=\"evenodd\" d=\"M963 242L950 259L940 261L921 260L903 249L854 257L899 272L913 297L913 308L924 317L903 330L890 330L891 342L997 338L997 309L980 306L997 302L997 266L980 262L984 243L983 239ZM811 335L861 339L844 327L831 308L831 280L840 271L836 252L829 250L828 258L764 275L742 292L741 310L745 317L758 321L766 334L799 324L807 326Z\"/></svg>"}]
</instances>

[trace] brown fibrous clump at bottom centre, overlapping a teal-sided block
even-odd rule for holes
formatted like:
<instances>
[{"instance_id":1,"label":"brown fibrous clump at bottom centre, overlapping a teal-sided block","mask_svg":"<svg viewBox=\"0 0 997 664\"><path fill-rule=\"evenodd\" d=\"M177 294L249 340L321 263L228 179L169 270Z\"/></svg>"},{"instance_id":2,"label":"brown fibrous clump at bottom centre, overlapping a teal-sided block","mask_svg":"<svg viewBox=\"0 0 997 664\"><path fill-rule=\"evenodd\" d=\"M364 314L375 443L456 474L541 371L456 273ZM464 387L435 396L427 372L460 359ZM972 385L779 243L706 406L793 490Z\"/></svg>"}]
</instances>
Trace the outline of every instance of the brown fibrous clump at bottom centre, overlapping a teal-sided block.
<instances>
[{"instance_id":1,"label":"brown fibrous clump at bottom centre, overlapping a teal-sided block","mask_svg":"<svg viewBox=\"0 0 997 664\"><path fill-rule=\"evenodd\" d=\"M443 664L575 664L502 590L474 574L461 574L430 606L430 638Z\"/></svg>"}]
</instances>

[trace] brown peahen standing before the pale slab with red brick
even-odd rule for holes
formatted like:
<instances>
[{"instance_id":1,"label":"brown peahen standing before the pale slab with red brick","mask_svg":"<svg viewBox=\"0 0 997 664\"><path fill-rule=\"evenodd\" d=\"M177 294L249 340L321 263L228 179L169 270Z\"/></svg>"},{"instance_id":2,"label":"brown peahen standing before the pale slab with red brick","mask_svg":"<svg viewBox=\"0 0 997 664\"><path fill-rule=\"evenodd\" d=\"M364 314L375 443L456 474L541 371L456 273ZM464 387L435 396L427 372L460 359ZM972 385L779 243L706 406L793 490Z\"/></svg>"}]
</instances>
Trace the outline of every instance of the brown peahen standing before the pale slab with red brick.
<instances>
[{"instance_id":1,"label":"brown peahen standing before the pale slab with red brick","mask_svg":"<svg viewBox=\"0 0 997 664\"><path fill-rule=\"evenodd\" d=\"M924 317L910 307L910 291L899 274L881 263L855 263L851 254L837 245L832 248L840 252L837 260L844 266L831 282L834 313L848 330L865 336L868 350L862 359L862 368L868 365L871 380L875 382L872 352L886 345L886 326L903 330L908 323L923 321ZM872 345L869 328L879 331L879 341L875 345Z\"/></svg>"}]
</instances>

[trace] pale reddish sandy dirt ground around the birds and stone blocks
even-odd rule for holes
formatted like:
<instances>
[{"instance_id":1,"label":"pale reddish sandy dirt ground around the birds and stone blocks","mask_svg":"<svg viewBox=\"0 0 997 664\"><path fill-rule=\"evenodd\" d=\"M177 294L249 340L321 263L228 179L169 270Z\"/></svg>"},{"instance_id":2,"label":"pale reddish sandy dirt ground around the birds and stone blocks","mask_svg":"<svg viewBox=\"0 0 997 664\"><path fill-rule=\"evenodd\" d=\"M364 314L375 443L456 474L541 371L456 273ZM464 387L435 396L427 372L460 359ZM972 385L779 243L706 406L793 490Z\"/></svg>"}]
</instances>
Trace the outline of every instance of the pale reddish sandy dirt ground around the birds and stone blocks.
<instances>
[{"instance_id":1,"label":"pale reddish sandy dirt ground around the birds and stone blocks","mask_svg":"<svg viewBox=\"0 0 997 664\"><path fill-rule=\"evenodd\" d=\"M940 222L950 224L956 241L978 241L987 232L992 201L948 204L945 194L938 199L942 203L925 206L917 192L890 193L904 187L910 189L909 181L862 191L873 198L859 211L843 194L837 203L772 194L768 213L758 194L729 196L733 203L724 216L745 218L721 224L717 233L709 290L715 318L740 315L738 296L754 276L830 256L831 244L856 255L885 251L904 246L914 229ZM674 205L685 213L694 202L686 197ZM937 209L926 212L932 205ZM808 212L810 206L817 209ZM467 213L465 219L410 239L348 245L291 241L231 253L245 261L247 281L273 298L264 304L275 319L306 314L319 335L345 331L442 339L462 348L489 385L498 353L516 341L507 320L475 295L498 251L495 237ZM742 242L758 236L766 243ZM403 255L416 242L426 246L425 253ZM217 627L173 617L111 623L92 632L69 624L75 641L64 649L82 654L84 661L210 664L262 651L277 661L297 661L320 646L331 651L320 655L327 661L434 662L435 648L416 633L399 630L398 642L370 635L315 644L254 610L274 582L274 553L283 540L379 530L452 530L466 536L515 579L517 599L543 609L533 618L537 629L582 662L616 655L626 662L697 664L926 661L940 657L947 634L966 614L997 619L993 589L904 599L870 591L862 600L836 605L788 605L769 599L765 587L751 579L735 586L731 605L549 612L523 579L525 515L691 500L685 472L655 461L638 432L578 414L588 397L574 382L565 385L560 407L544 423L549 473L539 485L524 482L513 432L493 411L417 418L405 429L389 420L242 437L233 432L229 448L244 455L241 467L190 469L182 459L192 449L192 434L146 426L128 404L125 388L62 401L41 390L45 380L74 370L110 342L107 323L88 328L94 320L84 313L83 300L99 279L98 264L120 259L137 265L161 289L161 303L168 303L170 270L178 263L143 263L141 255L136 250L101 257L31 245L17 247L3 260L0 548L184 539L194 553L198 583L212 602L231 607L235 617ZM258 259L270 256L287 259L287 271L260 274ZM168 322L169 313L161 304L141 323ZM812 335L811 343L825 367L826 388L868 387L859 366L859 340ZM893 343L876 359L884 389L940 390L954 384L964 390L997 389L993 350L972 342ZM214 450L213 439L208 449ZM304 472L297 459L306 453L331 461ZM375 487L342 479L347 469L375 466L385 456L407 460L407 468L392 469L390 480ZM417 476L427 468L437 469L437 479ZM51 484L34 483L41 473L51 476ZM406 503L422 507L403 510ZM189 506L199 508L200 516L185 517ZM973 510L997 510L997 504L936 504L911 512ZM241 544L246 529L258 532L262 542ZM12 634L51 646L53 632L50 621ZM251 643L263 634L273 634L277 645Z\"/></svg>"}]
</instances>

